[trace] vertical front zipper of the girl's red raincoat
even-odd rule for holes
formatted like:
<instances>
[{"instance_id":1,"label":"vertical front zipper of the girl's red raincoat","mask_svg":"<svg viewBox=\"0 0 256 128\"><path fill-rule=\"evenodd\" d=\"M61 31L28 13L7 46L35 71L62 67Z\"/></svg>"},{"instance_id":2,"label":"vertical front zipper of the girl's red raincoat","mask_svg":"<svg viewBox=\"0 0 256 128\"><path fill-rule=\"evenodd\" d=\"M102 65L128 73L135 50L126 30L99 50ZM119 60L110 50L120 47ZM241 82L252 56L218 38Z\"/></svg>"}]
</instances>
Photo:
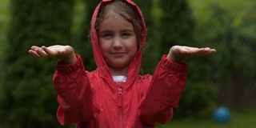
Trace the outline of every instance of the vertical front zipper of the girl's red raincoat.
<instances>
[{"instance_id":1,"label":"vertical front zipper of the girl's red raincoat","mask_svg":"<svg viewBox=\"0 0 256 128\"><path fill-rule=\"evenodd\" d=\"M122 128L122 86L118 83L118 128Z\"/></svg>"}]
</instances>

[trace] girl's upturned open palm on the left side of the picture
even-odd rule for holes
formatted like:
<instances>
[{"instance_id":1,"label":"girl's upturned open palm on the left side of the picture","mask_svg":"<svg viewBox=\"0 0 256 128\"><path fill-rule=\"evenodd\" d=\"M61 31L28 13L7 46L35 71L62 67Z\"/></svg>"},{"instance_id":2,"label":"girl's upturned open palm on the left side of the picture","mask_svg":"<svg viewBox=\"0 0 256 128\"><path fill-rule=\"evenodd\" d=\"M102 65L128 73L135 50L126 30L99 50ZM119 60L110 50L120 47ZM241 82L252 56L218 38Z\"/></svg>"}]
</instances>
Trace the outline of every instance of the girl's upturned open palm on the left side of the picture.
<instances>
[{"instance_id":1,"label":"girl's upturned open palm on the left side of the picture","mask_svg":"<svg viewBox=\"0 0 256 128\"><path fill-rule=\"evenodd\" d=\"M72 64L77 61L71 46L32 46L29 53L37 58L58 58L63 64Z\"/></svg>"}]
</instances>

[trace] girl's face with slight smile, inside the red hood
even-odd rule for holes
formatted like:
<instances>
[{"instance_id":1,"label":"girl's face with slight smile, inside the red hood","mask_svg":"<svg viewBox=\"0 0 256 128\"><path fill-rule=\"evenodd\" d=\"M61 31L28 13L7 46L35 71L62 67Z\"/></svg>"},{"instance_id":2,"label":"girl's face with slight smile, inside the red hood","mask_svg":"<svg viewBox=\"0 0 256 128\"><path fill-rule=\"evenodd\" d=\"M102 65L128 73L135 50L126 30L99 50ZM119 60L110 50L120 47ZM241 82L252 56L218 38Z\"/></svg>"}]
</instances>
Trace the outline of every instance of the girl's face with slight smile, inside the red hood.
<instances>
[{"instance_id":1,"label":"girl's face with slight smile, inside the red hood","mask_svg":"<svg viewBox=\"0 0 256 128\"><path fill-rule=\"evenodd\" d=\"M109 16L98 30L99 46L110 70L128 68L138 51L134 26L124 18Z\"/></svg>"}]
</instances>

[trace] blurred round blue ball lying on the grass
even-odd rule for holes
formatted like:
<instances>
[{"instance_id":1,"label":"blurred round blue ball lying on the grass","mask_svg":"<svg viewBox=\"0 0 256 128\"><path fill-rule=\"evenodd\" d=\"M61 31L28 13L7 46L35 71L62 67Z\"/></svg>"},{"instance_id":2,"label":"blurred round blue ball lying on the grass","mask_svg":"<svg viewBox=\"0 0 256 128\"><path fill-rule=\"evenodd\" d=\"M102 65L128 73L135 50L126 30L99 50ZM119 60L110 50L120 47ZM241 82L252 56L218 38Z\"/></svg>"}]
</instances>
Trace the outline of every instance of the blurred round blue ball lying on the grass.
<instances>
[{"instance_id":1,"label":"blurred round blue ball lying on the grass","mask_svg":"<svg viewBox=\"0 0 256 128\"><path fill-rule=\"evenodd\" d=\"M230 110L224 106L214 110L214 121L218 123L230 122Z\"/></svg>"}]
</instances>

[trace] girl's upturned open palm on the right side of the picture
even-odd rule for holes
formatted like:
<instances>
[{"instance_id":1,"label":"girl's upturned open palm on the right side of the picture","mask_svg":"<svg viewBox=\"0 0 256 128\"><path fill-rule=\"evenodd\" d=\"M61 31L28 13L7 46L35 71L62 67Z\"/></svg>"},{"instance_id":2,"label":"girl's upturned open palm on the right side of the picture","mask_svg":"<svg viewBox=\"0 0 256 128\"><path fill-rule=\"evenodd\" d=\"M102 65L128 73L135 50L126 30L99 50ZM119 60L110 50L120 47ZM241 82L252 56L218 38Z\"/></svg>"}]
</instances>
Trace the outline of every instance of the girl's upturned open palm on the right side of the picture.
<instances>
[{"instance_id":1,"label":"girl's upturned open palm on the right side of the picture","mask_svg":"<svg viewBox=\"0 0 256 128\"><path fill-rule=\"evenodd\" d=\"M172 46L167 58L172 62L181 63L185 58L203 54L212 54L215 52L216 50L210 49L209 47L197 48L190 46Z\"/></svg>"}]
</instances>

